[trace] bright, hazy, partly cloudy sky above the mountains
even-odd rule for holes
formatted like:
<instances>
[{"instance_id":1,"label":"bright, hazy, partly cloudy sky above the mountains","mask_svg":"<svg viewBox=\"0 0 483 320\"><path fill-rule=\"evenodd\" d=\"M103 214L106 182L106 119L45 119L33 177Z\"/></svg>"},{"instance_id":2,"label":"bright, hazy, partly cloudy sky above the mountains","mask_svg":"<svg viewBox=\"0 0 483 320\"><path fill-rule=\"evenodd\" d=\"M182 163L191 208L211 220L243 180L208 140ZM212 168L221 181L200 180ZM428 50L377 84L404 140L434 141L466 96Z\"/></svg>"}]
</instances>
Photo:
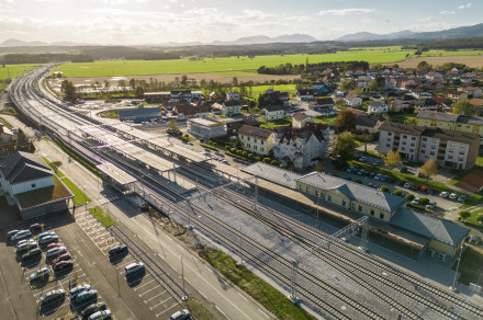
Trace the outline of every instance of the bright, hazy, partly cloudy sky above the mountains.
<instances>
[{"instance_id":1,"label":"bright, hazy, partly cloudy sky above the mountains","mask_svg":"<svg viewBox=\"0 0 483 320\"><path fill-rule=\"evenodd\" d=\"M0 0L0 43L156 45L296 33L325 41L473 25L482 12L482 0Z\"/></svg>"}]
</instances>

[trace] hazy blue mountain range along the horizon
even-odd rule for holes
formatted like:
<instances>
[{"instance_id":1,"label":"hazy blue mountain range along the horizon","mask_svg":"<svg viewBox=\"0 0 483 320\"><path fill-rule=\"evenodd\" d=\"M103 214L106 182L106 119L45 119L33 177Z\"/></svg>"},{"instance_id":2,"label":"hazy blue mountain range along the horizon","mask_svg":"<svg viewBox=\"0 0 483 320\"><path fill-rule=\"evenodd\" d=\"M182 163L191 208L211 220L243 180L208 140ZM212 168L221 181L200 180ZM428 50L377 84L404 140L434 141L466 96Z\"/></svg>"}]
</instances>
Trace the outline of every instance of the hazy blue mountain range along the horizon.
<instances>
[{"instance_id":1,"label":"hazy blue mountain range along the horizon","mask_svg":"<svg viewBox=\"0 0 483 320\"><path fill-rule=\"evenodd\" d=\"M337 42L364 42L364 41L391 41L391 39L418 39L418 41L434 41L434 39L449 39L449 38L467 38L467 37L483 37L483 23L459 26L435 32L412 32L408 30L389 33L375 34L370 32L358 32L355 34L344 35L336 38ZM273 43L312 43L317 39L307 34L291 34L278 37L269 37L266 35L240 37L233 42L214 41L211 43L162 43L162 44L146 44L146 46L159 47L179 47L179 46L200 46L200 45L216 45L216 46L232 46L232 45L258 45L258 44L273 44ZM34 46L88 46L89 44L80 44L74 42L24 42L20 39L10 38L0 43L0 47L34 47ZM92 44L91 44L92 45Z\"/></svg>"}]
</instances>

